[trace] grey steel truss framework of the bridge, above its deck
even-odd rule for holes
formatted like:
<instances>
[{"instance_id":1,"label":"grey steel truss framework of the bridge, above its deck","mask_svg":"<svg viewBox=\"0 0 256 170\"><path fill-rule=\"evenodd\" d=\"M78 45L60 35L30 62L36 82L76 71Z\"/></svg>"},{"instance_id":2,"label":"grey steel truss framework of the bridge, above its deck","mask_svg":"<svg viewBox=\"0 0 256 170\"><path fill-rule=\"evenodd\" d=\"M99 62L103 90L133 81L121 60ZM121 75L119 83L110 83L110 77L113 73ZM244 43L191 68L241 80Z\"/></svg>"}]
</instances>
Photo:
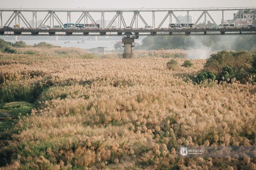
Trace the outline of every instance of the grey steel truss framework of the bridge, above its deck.
<instances>
[{"instance_id":1,"label":"grey steel truss framework of the bridge, above its deck","mask_svg":"<svg viewBox=\"0 0 256 170\"><path fill-rule=\"evenodd\" d=\"M76 13L79 14L79 17L72 18L72 21L74 24L80 23L82 20L86 24L88 23L88 19L91 23L96 23L95 18L93 17L93 14L100 13L101 15L101 22L99 23L102 28L111 28L114 21L118 21L120 28L125 28L127 26L138 28L138 20L140 19L145 26L148 26L149 21L146 21L145 17L143 17L142 14L145 12L152 12L152 26L159 29L161 26L163 26L163 23L166 21L168 17L174 17L176 21L180 24L180 21L176 17L177 12L186 12L187 14L187 23L189 23L189 13L190 12L201 12L200 17L197 19L197 21L194 23L196 25L200 19L204 16L204 27L206 27L206 17L211 19L211 21L217 26L216 22L213 20L213 17L209 14L209 12L216 11L216 12L222 12L222 23L224 24L224 12L226 11L235 11L237 12L233 17L230 24L235 20L235 18L240 16L245 16L247 18L247 21L249 21L250 24L253 24L253 21L251 18L248 18L244 11L248 10L256 10L256 7L231 7L231 8L193 8L193 9L0 9L0 20L1 20L1 27L4 26L12 26L12 24L15 25L19 24L21 25L21 22L24 23L24 25L27 28L40 28L40 26L44 25L47 21L50 21L50 27L54 26L54 24L57 22L60 26L64 27L64 23L71 23L71 14ZM123 14L125 13L133 13L132 18L125 19ZM156 14L159 12L165 12L166 15L164 18L157 17L157 21L159 22L159 25L156 26ZM24 13L28 14L23 15ZM42 22L37 24L37 16L39 13L45 14L44 19ZM105 14L106 13L114 13L114 16L111 19L111 22L108 25L105 25ZM64 19L64 16L66 15L66 21ZM3 18L9 18L6 22L3 22ZM32 19L33 24L29 24L28 21ZM128 21L131 21L130 24L128 24ZM135 26L134 26L135 25ZM151 24L150 24L151 25Z\"/></svg>"}]
</instances>

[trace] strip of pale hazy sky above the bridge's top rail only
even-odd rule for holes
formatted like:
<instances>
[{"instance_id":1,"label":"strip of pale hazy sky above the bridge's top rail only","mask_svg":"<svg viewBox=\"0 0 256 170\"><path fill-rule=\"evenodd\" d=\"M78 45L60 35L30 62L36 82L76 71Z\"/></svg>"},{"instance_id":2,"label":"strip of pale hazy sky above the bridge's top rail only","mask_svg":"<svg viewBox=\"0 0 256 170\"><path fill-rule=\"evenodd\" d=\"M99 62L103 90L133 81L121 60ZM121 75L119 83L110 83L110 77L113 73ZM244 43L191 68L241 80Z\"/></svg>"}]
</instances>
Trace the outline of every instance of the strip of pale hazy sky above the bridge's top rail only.
<instances>
[{"instance_id":1,"label":"strip of pale hazy sky above the bridge's top rail only","mask_svg":"<svg viewBox=\"0 0 256 170\"><path fill-rule=\"evenodd\" d=\"M126 9L126 8L197 8L255 7L255 0L0 0L0 8L64 8ZM127 3L125 3L127 2Z\"/></svg>"}]
</instances>

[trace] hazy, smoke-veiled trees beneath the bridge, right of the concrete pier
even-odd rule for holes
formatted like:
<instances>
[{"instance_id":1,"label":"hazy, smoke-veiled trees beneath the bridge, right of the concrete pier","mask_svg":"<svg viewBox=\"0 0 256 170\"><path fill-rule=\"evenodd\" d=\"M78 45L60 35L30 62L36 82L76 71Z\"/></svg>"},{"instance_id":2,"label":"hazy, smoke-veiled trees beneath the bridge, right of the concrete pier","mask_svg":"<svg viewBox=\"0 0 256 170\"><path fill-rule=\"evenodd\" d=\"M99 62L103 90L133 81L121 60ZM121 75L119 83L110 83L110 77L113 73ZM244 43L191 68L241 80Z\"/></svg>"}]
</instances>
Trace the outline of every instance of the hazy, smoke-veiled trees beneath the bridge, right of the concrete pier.
<instances>
[{"instance_id":1,"label":"hazy, smoke-veiled trees beneath the bridge, right of the concrete pier","mask_svg":"<svg viewBox=\"0 0 256 170\"><path fill-rule=\"evenodd\" d=\"M256 36L147 36L142 45L134 49L157 50L168 49L203 49L208 51L219 50L249 50L256 52ZM206 57L205 57L206 58Z\"/></svg>"}]
</instances>

